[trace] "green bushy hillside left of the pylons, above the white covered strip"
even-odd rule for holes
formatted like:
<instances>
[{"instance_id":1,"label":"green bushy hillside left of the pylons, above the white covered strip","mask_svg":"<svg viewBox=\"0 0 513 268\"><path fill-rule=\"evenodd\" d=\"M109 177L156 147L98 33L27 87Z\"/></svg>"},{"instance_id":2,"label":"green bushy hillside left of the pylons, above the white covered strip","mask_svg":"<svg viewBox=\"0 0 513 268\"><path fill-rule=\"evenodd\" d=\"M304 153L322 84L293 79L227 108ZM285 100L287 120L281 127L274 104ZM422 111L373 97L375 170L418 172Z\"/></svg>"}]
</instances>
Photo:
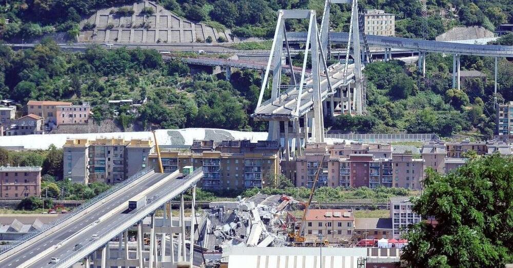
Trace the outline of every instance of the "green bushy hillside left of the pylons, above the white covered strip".
<instances>
[{"instance_id":1,"label":"green bushy hillside left of the pylons, above the white covered strip","mask_svg":"<svg viewBox=\"0 0 513 268\"><path fill-rule=\"evenodd\" d=\"M25 104L29 99L89 101L93 118L113 115L110 99L148 101L132 114L119 109L123 126L211 127L263 130L250 119L261 78L255 71L190 75L180 61L166 62L155 50L92 47L85 53L63 52L50 40L34 49L13 51L0 45L0 97Z\"/></svg>"}]
</instances>

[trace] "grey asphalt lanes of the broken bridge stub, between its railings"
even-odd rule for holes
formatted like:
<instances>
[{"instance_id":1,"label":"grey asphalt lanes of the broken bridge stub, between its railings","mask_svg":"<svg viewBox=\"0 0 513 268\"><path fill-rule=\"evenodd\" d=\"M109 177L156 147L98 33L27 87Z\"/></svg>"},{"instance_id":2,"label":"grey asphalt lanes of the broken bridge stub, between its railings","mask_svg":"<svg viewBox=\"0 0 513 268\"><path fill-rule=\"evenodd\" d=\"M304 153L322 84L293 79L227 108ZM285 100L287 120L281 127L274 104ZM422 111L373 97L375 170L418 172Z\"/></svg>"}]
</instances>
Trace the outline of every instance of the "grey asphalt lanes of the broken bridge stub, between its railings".
<instances>
[{"instance_id":1,"label":"grey asphalt lanes of the broken bridge stub, between its railings","mask_svg":"<svg viewBox=\"0 0 513 268\"><path fill-rule=\"evenodd\" d=\"M117 198L114 198L98 207L96 210L89 212L88 214L83 215L82 217L76 219L74 222L68 224L65 228L60 231L57 231L41 240L34 242L28 248L19 251L6 259L0 261L0 267L17 267L22 263L26 262L30 258L35 255L45 251L46 249L53 247L63 241L64 239L79 233L82 229L86 228L88 225L94 223L98 218L102 217L108 211L117 208L119 205L125 203L128 207L128 200L142 192L144 189L148 188L150 185L153 185L157 181L163 179L164 177L170 175L170 173L155 173L151 175L149 178L136 184L134 187L129 188L125 194L120 195ZM173 182L176 183L176 179L172 179ZM165 187L157 188L147 195L148 198L152 198L156 193L162 192L164 189L169 189L170 185L174 183L168 183ZM121 213L120 213L121 214ZM104 231L107 231L112 227L116 222L121 219L124 219L129 214L122 215L113 215L105 219L104 221L97 223L93 228L89 229L85 234L80 234L75 236L73 239L68 240L63 245L59 246L57 249L53 250L47 256L41 258L39 261L33 263L30 267L44 267L51 266L48 263L50 262L50 258L57 257L60 259L65 258L69 254L73 253L73 248L76 243L87 243L93 234L102 234ZM124 216L124 217L123 217Z\"/></svg>"}]
</instances>

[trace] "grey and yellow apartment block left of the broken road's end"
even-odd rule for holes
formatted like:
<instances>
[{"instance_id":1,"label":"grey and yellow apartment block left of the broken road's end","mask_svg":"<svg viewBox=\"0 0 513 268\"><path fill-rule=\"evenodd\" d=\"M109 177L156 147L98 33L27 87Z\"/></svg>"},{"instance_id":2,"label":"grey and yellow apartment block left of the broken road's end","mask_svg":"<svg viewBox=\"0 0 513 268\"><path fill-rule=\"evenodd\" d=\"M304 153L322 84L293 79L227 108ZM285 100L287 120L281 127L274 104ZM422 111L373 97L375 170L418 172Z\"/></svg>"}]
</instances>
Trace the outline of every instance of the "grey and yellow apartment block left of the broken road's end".
<instances>
[{"instance_id":1,"label":"grey and yellow apartment block left of the broken road's end","mask_svg":"<svg viewBox=\"0 0 513 268\"><path fill-rule=\"evenodd\" d=\"M148 139L68 139L63 175L78 183L117 183L145 169L152 149Z\"/></svg>"}]
</instances>

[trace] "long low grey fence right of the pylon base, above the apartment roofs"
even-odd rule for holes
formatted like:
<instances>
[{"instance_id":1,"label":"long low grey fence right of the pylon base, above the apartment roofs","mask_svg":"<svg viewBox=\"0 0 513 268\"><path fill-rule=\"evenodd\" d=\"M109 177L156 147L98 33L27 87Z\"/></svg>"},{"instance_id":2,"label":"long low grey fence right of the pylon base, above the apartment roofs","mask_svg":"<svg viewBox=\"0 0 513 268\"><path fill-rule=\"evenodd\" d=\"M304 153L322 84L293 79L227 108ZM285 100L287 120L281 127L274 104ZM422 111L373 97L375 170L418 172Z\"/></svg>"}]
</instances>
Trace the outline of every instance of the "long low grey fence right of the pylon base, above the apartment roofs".
<instances>
[{"instance_id":1,"label":"long low grey fence right of the pylon base, above the apartment roofs","mask_svg":"<svg viewBox=\"0 0 513 268\"><path fill-rule=\"evenodd\" d=\"M361 142L430 141L439 140L437 134L326 134L326 138L349 139Z\"/></svg>"}]
</instances>

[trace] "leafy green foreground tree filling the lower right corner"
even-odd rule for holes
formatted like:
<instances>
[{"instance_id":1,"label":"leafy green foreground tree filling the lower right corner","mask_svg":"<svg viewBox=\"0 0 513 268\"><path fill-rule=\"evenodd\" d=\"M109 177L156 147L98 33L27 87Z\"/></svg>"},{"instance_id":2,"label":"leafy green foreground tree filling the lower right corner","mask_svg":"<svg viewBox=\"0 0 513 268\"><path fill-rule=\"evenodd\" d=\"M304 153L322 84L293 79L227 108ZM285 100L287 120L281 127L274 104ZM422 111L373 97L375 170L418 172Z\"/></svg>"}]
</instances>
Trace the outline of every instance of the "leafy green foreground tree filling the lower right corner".
<instances>
[{"instance_id":1,"label":"leafy green foreground tree filling the lower right corner","mask_svg":"<svg viewBox=\"0 0 513 268\"><path fill-rule=\"evenodd\" d=\"M472 158L448 175L429 172L409 228L407 267L501 267L513 261L513 159Z\"/></svg>"}]
</instances>

